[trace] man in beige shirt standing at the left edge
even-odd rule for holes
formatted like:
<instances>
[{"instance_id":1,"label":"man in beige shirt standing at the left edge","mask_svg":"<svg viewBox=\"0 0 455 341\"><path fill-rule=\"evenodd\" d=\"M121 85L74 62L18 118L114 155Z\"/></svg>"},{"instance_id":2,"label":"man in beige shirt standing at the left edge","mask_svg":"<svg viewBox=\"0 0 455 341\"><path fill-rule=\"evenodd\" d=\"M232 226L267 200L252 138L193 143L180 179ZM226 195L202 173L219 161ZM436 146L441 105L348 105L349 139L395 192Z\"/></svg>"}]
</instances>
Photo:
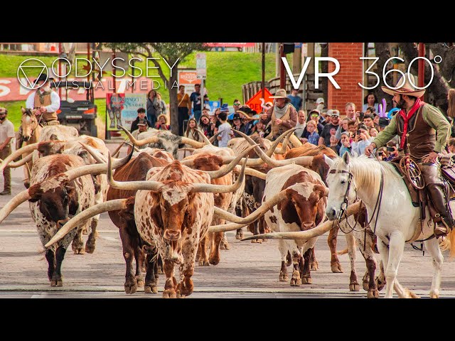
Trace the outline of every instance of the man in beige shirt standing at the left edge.
<instances>
[{"instance_id":1,"label":"man in beige shirt standing at the left edge","mask_svg":"<svg viewBox=\"0 0 455 341\"><path fill-rule=\"evenodd\" d=\"M7 116L8 110L0 107L0 158L2 160L11 155L11 139L14 138L14 124L6 118ZM4 190L0 195L11 195L11 168L4 168L3 176Z\"/></svg>"}]
</instances>

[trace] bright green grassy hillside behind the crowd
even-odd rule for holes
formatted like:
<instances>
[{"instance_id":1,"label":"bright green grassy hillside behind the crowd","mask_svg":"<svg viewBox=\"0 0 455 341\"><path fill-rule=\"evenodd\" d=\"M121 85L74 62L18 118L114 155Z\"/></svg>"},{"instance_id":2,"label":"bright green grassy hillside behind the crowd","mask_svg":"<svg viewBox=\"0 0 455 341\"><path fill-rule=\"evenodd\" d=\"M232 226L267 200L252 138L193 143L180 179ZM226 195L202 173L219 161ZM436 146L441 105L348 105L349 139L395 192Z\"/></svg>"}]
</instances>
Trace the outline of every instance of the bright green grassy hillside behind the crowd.
<instances>
[{"instance_id":1,"label":"bright green grassy hillside behind the crowd","mask_svg":"<svg viewBox=\"0 0 455 341\"><path fill-rule=\"evenodd\" d=\"M241 53L241 52L206 52L207 54L207 81L206 86L210 99L218 100L223 98L223 102L232 104L233 99L237 98L242 100L242 85L247 82L259 81L262 78L261 73L261 53ZM84 56L85 57L85 56ZM31 56L11 56L11 55L0 55L0 77L16 77L17 68ZM48 67L52 65L55 57L36 57L42 60ZM273 53L267 53L266 55L266 76L265 79L269 80L274 77L275 72L275 59ZM31 64L28 64L31 65ZM55 63L55 67L57 67ZM166 77L169 75L169 68L167 65L160 60L161 70L164 71ZM83 72L83 65L78 65L78 71L80 74ZM146 63L137 63L135 66L141 67L144 70ZM149 62L149 67L153 66ZM185 60L183 60L179 67L196 68L196 53L192 53ZM74 75L72 70L70 75ZM149 69L149 75L158 75L156 69ZM104 73L103 76L109 77L109 73ZM159 92L166 103L169 100L168 90L164 89L164 84L161 78L151 78L159 80L161 87ZM102 121L105 121L105 99L97 99L96 104L98 106L98 115ZM9 119L14 123L16 129L21 117L21 106L25 105L25 101L18 102L1 102L0 105L6 107L9 110Z\"/></svg>"}]
</instances>

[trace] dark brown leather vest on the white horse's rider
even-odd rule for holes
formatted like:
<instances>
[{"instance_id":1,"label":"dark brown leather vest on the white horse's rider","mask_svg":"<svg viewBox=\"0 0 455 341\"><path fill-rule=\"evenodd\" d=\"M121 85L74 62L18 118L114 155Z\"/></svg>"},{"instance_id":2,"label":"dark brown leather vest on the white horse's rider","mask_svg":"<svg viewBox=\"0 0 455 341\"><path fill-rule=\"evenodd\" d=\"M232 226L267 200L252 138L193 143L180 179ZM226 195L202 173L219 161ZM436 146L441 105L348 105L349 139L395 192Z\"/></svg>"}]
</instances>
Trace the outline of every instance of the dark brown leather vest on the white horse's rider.
<instances>
[{"instance_id":1,"label":"dark brown leather vest on the white horse's rider","mask_svg":"<svg viewBox=\"0 0 455 341\"><path fill-rule=\"evenodd\" d=\"M436 131L424 120L424 107L419 107L407 124L405 141L405 152L409 152L412 158L423 158L434 151L436 145ZM397 114L398 115L398 114ZM399 115L397 117L397 132L403 134L405 120Z\"/></svg>"}]
</instances>

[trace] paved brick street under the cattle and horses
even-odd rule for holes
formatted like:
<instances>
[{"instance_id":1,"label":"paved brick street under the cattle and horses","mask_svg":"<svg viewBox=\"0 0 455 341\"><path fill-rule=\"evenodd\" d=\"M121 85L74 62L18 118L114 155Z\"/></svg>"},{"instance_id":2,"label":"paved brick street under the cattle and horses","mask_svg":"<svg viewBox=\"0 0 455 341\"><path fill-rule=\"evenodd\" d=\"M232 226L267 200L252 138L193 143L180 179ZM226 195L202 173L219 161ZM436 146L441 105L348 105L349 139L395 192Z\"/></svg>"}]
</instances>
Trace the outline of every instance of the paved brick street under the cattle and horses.
<instances>
[{"instance_id":1,"label":"paved brick street under the cattle and horses","mask_svg":"<svg viewBox=\"0 0 455 341\"><path fill-rule=\"evenodd\" d=\"M114 148L117 144L109 144ZM122 154L123 155L123 154ZM12 171L13 194L24 187L21 168ZM0 181L3 186L3 179ZM3 189L3 188L1 188ZM0 197L3 207L10 197ZM73 254L69 250L63 261L63 288L51 288L47 278L47 261L28 210L28 202L18 207L0 226L0 298L161 298L164 275L159 278L159 293L145 295L141 289L134 295L124 293L125 265L117 227L105 213L100 219L97 249L94 254ZM247 232L245 235L249 235ZM85 236L85 240L87 236ZM189 298L366 298L360 292L348 291L350 267L348 255L340 256L342 274L330 269L330 252L326 235L316 243L318 271L312 272L313 283L291 287L279 282L281 259L277 241L262 244L240 242L235 232L228 232L231 249L221 251L218 266L196 266L194 293ZM338 251L346 247L343 235L338 237ZM444 252L441 296L455 297L455 264ZM365 262L358 251L359 281L365 273ZM291 268L289 268L291 274ZM398 278L422 297L428 297L432 280L429 254L405 247ZM384 290L381 296L384 295Z\"/></svg>"}]
</instances>

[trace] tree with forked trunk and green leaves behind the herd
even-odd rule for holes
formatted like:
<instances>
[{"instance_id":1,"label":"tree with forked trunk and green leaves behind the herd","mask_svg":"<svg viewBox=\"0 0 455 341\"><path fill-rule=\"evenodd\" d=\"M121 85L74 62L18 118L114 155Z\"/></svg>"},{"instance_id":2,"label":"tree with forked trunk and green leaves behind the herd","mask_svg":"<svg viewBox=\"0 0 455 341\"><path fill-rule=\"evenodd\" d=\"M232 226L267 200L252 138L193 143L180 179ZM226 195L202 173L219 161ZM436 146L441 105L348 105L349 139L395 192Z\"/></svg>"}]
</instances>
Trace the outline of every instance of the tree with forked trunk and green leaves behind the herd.
<instances>
[{"instance_id":1,"label":"tree with forked trunk and green leaves behind the herd","mask_svg":"<svg viewBox=\"0 0 455 341\"><path fill-rule=\"evenodd\" d=\"M104 45L107 48L112 48L112 50L141 55L145 58L156 58L156 54L158 54L169 67L172 67L168 79L163 70L161 70L161 65L159 65L158 61L156 59L151 60L158 67L157 70L161 80L168 85L169 118L171 119L172 133L178 135L177 67L193 51L207 50L205 43L104 43Z\"/></svg>"}]
</instances>

